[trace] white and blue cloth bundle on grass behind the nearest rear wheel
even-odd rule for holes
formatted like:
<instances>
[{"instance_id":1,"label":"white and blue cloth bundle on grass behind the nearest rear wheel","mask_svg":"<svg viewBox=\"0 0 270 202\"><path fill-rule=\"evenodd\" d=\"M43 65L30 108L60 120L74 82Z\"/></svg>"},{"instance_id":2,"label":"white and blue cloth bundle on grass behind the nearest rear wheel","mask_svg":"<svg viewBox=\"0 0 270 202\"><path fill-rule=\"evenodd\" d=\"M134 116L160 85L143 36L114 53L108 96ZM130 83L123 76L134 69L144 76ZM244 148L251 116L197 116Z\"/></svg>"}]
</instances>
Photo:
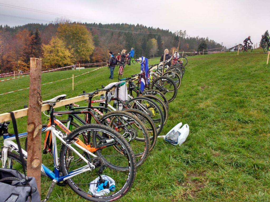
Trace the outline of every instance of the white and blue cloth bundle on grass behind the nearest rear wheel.
<instances>
[{"instance_id":1,"label":"white and blue cloth bundle on grass behind the nearest rear wheel","mask_svg":"<svg viewBox=\"0 0 270 202\"><path fill-rule=\"evenodd\" d=\"M95 180L90 182L89 191L88 191L89 194L93 194L95 196L104 196L106 194L109 194L111 190L112 191L114 190L115 181L107 175L102 175L101 177L103 180L107 180L109 182L109 189L102 189L98 191L98 189L100 188L98 184L100 183L99 183L99 177L97 177Z\"/></svg>"}]
</instances>

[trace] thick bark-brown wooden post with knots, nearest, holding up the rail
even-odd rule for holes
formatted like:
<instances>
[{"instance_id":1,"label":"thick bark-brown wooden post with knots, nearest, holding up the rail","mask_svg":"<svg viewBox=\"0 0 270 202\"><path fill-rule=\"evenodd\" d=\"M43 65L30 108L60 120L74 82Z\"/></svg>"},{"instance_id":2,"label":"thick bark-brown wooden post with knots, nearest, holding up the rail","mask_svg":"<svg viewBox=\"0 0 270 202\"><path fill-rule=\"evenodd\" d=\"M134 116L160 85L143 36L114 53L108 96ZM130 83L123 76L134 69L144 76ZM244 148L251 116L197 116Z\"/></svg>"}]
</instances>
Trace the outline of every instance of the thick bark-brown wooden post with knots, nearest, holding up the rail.
<instances>
[{"instance_id":1,"label":"thick bark-brown wooden post with knots, nearest, holding up the rail","mask_svg":"<svg viewBox=\"0 0 270 202\"><path fill-rule=\"evenodd\" d=\"M41 59L30 58L30 88L27 119L27 175L36 179L41 193Z\"/></svg>"}]
</instances>

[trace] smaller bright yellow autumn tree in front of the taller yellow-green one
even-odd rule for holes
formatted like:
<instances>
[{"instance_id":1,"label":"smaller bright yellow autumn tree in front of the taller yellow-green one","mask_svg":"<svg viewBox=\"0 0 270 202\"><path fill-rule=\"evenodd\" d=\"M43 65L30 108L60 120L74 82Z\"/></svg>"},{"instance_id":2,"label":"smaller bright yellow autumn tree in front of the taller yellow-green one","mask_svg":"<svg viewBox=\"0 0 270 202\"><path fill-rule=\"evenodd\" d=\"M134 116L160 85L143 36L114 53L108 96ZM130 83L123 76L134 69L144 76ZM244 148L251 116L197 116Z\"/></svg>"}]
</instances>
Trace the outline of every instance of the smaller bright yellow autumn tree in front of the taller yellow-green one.
<instances>
[{"instance_id":1,"label":"smaller bright yellow autumn tree in front of the taller yellow-green one","mask_svg":"<svg viewBox=\"0 0 270 202\"><path fill-rule=\"evenodd\" d=\"M65 65L73 64L71 58L72 53L68 48L66 48L66 44L57 37L52 37L48 45L42 46L43 50L43 60L42 65L55 68ZM72 51L73 49L71 49Z\"/></svg>"}]
</instances>

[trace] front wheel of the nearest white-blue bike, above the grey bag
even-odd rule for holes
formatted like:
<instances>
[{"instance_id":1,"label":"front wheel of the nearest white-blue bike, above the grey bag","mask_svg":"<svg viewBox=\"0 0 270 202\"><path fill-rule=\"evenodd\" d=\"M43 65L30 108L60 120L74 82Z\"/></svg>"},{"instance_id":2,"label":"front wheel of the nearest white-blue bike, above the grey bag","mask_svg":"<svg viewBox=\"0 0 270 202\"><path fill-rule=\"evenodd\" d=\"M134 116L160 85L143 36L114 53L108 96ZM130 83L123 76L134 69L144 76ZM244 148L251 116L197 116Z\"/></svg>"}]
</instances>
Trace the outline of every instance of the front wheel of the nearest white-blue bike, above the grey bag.
<instances>
[{"instance_id":1,"label":"front wheel of the nearest white-blue bike, above the grey bag","mask_svg":"<svg viewBox=\"0 0 270 202\"><path fill-rule=\"evenodd\" d=\"M2 151L0 151L0 159L2 159ZM26 165L26 160L24 160L24 162ZM2 168L16 169L20 173L23 173L21 157L18 154L8 151L8 159L6 165L2 165Z\"/></svg>"}]
</instances>

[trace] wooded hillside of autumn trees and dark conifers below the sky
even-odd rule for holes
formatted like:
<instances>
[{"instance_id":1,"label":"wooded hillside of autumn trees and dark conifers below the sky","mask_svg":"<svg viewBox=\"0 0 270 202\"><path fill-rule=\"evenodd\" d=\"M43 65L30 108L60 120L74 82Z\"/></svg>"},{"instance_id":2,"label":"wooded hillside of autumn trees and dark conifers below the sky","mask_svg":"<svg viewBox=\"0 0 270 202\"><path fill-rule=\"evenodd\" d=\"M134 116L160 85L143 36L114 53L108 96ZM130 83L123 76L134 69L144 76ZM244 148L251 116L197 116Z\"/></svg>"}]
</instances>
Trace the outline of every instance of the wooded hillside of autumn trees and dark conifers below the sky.
<instances>
[{"instance_id":1,"label":"wooded hillside of autumn trees and dark conifers below the sky","mask_svg":"<svg viewBox=\"0 0 270 202\"><path fill-rule=\"evenodd\" d=\"M57 19L53 23L0 26L0 71L26 71L30 57L42 58L43 68L102 62L109 51L115 54L133 47L135 58L158 57L168 48L177 49L179 32L131 24L76 23ZM190 37L181 32L179 50L194 52L199 44L221 47L208 37Z\"/></svg>"}]
</instances>

